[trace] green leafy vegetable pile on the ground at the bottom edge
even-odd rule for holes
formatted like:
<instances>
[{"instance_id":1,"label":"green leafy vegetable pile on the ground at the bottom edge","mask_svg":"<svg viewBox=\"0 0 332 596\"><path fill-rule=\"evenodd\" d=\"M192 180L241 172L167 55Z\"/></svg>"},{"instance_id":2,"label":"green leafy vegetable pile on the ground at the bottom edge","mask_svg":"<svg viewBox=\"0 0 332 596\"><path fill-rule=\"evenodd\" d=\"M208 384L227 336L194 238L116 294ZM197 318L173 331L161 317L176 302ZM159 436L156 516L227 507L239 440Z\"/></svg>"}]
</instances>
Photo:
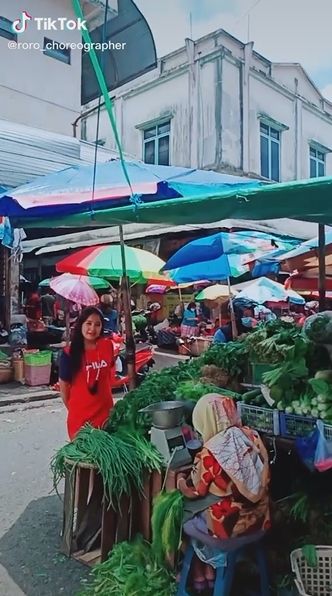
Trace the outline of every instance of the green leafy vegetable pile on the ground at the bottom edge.
<instances>
[{"instance_id":1,"label":"green leafy vegetable pile on the ground at the bottom edge","mask_svg":"<svg viewBox=\"0 0 332 596\"><path fill-rule=\"evenodd\" d=\"M92 570L93 580L77 596L173 596L173 575L158 563L142 538L117 544L107 561Z\"/></svg>"}]
</instances>

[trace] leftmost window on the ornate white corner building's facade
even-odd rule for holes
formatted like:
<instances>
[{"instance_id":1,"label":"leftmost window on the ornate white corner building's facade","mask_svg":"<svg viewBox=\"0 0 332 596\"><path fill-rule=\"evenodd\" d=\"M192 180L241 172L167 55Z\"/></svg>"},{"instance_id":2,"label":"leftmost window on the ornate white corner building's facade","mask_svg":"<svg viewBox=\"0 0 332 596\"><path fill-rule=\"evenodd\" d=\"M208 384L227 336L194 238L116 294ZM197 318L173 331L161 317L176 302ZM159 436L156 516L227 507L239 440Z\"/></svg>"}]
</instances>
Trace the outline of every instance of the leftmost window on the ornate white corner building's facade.
<instances>
[{"instance_id":1,"label":"leftmost window on the ornate white corner building's facade","mask_svg":"<svg viewBox=\"0 0 332 596\"><path fill-rule=\"evenodd\" d=\"M145 163L169 166L170 131L169 120L143 131L143 160Z\"/></svg>"}]
</instances>

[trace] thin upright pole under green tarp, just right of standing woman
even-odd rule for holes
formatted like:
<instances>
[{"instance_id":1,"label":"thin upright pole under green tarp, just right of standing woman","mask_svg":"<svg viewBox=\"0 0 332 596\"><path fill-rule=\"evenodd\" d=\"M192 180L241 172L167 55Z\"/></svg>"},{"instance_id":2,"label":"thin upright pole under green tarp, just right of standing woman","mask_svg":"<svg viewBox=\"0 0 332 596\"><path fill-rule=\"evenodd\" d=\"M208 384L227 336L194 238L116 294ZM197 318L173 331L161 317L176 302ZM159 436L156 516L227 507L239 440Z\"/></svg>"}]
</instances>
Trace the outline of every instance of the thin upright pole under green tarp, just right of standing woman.
<instances>
[{"instance_id":1,"label":"thin upright pole under green tarp, just right of standing woman","mask_svg":"<svg viewBox=\"0 0 332 596\"><path fill-rule=\"evenodd\" d=\"M133 334L133 324L131 319L131 304L130 304L130 286L127 276L126 266L126 251L123 238L123 227L119 226L120 246L121 246L121 261L122 261L122 304L125 316L126 326L126 360L128 365L129 389L136 387L136 372L135 372L135 340Z\"/></svg>"}]
</instances>

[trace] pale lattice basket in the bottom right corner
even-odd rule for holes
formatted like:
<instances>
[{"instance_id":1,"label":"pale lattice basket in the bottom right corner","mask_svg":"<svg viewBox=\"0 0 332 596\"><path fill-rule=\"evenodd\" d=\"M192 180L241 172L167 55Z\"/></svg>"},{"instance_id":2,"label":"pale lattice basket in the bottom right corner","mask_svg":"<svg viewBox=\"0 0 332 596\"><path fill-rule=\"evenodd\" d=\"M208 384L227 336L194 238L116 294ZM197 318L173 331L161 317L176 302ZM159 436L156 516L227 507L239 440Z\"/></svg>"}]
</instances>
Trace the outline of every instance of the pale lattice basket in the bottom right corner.
<instances>
[{"instance_id":1,"label":"pale lattice basket in the bottom right corner","mask_svg":"<svg viewBox=\"0 0 332 596\"><path fill-rule=\"evenodd\" d=\"M295 585L300 596L331 596L332 546L316 546L317 567L309 567L300 548L290 555Z\"/></svg>"}]
</instances>

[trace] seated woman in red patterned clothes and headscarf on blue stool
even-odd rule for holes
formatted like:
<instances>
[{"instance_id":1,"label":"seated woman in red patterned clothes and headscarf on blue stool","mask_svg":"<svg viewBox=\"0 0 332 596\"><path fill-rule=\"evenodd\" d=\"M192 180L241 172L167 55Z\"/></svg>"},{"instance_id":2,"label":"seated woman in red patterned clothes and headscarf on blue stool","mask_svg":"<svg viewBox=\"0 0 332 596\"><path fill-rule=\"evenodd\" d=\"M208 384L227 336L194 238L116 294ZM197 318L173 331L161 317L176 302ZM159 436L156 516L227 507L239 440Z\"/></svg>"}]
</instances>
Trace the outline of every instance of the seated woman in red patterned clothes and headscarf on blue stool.
<instances>
[{"instance_id":1,"label":"seated woman in red patterned clothes and headscarf on blue stool","mask_svg":"<svg viewBox=\"0 0 332 596\"><path fill-rule=\"evenodd\" d=\"M258 433L242 427L230 398L207 394L196 404L193 425L204 445L189 479L178 489L187 498L185 531L192 528L221 540L265 530L270 525L269 460ZM188 523L188 520L191 520ZM213 585L214 570L204 564L201 551L193 565L197 591Z\"/></svg>"}]
</instances>

